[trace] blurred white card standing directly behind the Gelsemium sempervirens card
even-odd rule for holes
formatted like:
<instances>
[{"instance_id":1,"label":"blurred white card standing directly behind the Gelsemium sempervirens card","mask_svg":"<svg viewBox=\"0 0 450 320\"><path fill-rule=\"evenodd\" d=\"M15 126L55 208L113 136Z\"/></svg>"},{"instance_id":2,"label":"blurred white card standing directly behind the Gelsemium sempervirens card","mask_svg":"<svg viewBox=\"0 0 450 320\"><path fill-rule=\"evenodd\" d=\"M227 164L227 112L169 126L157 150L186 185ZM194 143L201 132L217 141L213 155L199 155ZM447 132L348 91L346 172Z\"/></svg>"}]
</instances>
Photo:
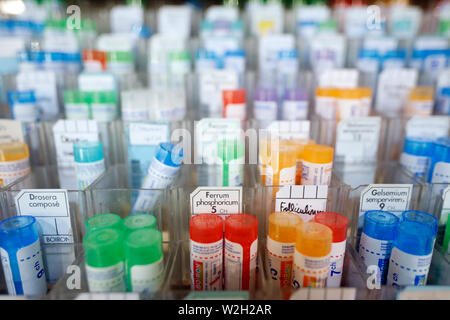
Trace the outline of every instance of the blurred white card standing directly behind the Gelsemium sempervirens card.
<instances>
[{"instance_id":1,"label":"blurred white card standing directly behind the Gelsemium sempervirens card","mask_svg":"<svg viewBox=\"0 0 450 320\"><path fill-rule=\"evenodd\" d=\"M378 154L381 118L341 120L336 137L336 162L374 162Z\"/></svg>"}]
</instances>

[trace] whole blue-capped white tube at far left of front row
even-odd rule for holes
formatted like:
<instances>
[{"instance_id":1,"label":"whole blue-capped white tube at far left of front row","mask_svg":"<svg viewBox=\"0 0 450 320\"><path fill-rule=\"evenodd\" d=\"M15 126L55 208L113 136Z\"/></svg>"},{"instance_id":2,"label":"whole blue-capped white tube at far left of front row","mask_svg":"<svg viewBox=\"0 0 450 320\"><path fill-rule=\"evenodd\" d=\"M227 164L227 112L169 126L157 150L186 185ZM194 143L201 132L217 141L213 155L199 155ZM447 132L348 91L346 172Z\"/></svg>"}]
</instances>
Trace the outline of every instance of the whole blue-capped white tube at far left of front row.
<instances>
[{"instance_id":1,"label":"whole blue-capped white tube at far left of front row","mask_svg":"<svg viewBox=\"0 0 450 320\"><path fill-rule=\"evenodd\" d=\"M47 293L36 218L17 216L1 221L0 254L10 295L43 296Z\"/></svg>"}]
</instances>

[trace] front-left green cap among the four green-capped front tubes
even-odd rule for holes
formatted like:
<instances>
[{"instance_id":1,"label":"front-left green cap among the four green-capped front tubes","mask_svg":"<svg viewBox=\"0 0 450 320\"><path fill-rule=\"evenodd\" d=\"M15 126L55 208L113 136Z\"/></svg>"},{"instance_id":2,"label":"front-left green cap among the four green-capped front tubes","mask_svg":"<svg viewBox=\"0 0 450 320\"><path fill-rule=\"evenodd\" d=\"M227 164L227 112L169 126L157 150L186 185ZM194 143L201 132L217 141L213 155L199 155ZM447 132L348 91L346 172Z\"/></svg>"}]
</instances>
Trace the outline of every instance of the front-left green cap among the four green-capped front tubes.
<instances>
[{"instance_id":1,"label":"front-left green cap among the four green-capped front tubes","mask_svg":"<svg viewBox=\"0 0 450 320\"><path fill-rule=\"evenodd\" d=\"M124 261L123 233L117 229L94 230L84 237L83 245L90 267L110 267Z\"/></svg>"}]
</instances>

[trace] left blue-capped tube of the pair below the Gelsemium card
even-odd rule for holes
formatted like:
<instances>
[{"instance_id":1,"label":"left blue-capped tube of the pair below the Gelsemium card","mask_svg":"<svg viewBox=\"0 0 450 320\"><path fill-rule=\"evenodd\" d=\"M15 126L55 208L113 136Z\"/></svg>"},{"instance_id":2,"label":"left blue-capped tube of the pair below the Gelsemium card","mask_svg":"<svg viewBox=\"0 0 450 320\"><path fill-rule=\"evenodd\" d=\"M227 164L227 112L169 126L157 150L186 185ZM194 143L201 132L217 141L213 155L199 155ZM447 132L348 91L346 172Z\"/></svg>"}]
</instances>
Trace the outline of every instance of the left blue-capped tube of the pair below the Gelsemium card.
<instances>
[{"instance_id":1,"label":"left blue-capped tube of the pair below the Gelsemium card","mask_svg":"<svg viewBox=\"0 0 450 320\"><path fill-rule=\"evenodd\" d=\"M392 243L400 219L387 211L367 211L359 243L359 255L367 267L378 268L380 284L386 283L386 274Z\"/></svg>"}]
</instances>

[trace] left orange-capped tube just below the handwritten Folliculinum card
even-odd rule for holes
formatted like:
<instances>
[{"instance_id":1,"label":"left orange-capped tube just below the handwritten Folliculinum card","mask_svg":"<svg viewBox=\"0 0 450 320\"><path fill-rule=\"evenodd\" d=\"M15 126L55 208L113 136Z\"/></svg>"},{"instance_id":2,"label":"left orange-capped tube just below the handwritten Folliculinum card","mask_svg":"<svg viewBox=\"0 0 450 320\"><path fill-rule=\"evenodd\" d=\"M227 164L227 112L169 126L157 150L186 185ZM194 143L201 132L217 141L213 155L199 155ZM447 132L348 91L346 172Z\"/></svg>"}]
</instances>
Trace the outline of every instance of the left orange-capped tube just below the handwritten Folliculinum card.
<instances>
[{"instance_id":1,"label":"left orange-capped tube just below the handwritten Folliculinum card","mask_svg":"<svg viewBox=\"0 0 450 320\"><path fill-rule=\"evenodd\" d=\"M267 265L272 281L280 288L291 286L295 232L302 223L302 219L291 212L274 212L269 215Z\"/></svg>"}]
</instances>

